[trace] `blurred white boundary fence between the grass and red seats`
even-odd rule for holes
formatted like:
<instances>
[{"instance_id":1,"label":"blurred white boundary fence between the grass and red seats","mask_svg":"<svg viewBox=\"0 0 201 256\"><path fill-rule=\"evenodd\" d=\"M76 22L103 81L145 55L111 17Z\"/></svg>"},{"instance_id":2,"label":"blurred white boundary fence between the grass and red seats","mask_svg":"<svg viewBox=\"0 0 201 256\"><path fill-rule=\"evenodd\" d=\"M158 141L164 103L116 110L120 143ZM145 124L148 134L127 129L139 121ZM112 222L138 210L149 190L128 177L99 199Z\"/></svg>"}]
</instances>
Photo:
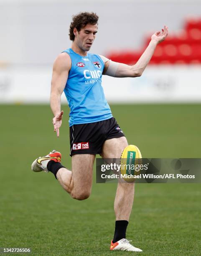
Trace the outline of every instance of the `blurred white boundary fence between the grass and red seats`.
<instances>
[{"instance_id":1,"label":"blurred white boundary fence between the grass and red seats","mask_svg":"<svg viewBox=\"0 0 201 256\"><path fill-rule=\"evenodd\" d=\"M51 72L45 66L0 69L0 103L48 103ZM201 102L201 65L150 66L142 77L103 76L102 85L108 102Z\"/></svg>"}]
</instances>

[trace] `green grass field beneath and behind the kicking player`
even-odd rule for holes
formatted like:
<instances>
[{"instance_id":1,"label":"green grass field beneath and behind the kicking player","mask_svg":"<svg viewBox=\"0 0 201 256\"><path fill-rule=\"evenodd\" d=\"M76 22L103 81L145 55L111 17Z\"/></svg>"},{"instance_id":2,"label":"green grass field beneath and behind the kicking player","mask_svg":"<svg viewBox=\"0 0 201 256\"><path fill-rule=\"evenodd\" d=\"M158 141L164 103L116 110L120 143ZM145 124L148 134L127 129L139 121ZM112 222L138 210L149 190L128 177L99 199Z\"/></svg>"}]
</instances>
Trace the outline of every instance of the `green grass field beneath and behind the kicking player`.
<instances>
[{"instance_id":1,"label":"green grass field beneath and behind the kicking player","mask_svg":"<svg viewBox=\"0 0 201 256\"><path fill-rule=\"evenodd\" d=\"M111 108L142 156L201 158L201 105ZM56 138L48 106L0 105L0 247L29 247L31 255L133 254L109 251L116 184L96 184L94 172L91 197L76 201L53 174L31 172L32 161L53 148L71 168L63 109ZM201 184L137 184L127 238L142 255L201 255Z\"/></svg>"}]
</instances>

